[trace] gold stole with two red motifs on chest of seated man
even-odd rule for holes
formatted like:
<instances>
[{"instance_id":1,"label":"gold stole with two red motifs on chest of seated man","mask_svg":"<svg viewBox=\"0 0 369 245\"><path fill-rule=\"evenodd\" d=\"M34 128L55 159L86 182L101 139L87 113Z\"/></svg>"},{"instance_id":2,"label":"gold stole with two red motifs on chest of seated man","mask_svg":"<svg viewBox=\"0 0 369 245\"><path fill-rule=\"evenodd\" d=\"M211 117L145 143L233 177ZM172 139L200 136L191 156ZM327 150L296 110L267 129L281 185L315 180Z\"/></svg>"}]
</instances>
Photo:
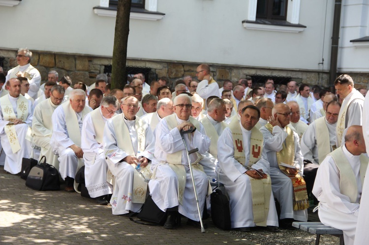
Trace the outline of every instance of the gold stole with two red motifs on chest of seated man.
<instances>
[{"instance_id":1,"label":"gold stole with two red motifs on chest of seated man","mask_svg":"<svg viewBox=\"0 0 369 245\"><path fill-rule=\"evenodd\" d=\"M244 144L248 142L242 142L243 134L240 122L232 120L229 124L229 129L232 132L235 160L242 165L246 165ZM260 159L262 150L263 134L257 128L253 127L250 136L250 160L247 166L251 166ZM267 179L254 179L248 175L246 176L250 179L251 183L254 223L258 226L267 226L270 196L272 192L271 178L269 175Z\"/></svg>"}]
</instances>

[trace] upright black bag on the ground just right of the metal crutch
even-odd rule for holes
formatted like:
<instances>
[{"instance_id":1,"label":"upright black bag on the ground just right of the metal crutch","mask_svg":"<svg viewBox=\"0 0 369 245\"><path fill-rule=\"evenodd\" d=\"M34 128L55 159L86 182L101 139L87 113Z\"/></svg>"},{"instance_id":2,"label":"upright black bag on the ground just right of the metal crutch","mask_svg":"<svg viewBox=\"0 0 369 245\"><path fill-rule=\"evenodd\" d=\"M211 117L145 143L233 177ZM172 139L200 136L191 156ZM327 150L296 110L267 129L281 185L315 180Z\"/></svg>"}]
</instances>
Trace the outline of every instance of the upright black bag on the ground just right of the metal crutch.
<instances>
[{"instance_id":1,"label":"upright black bag on the ground just right of the metal crutch","mask_svg":"<svg viewBox=\"0 0 369 245\"><path fill-rule=\"evenodd\" d=\"M210 195L212 205L212 219L216 227L222 230L231 229L231 212L229 210L229 200L219 189Z\"/></svg>"}]
</instances>

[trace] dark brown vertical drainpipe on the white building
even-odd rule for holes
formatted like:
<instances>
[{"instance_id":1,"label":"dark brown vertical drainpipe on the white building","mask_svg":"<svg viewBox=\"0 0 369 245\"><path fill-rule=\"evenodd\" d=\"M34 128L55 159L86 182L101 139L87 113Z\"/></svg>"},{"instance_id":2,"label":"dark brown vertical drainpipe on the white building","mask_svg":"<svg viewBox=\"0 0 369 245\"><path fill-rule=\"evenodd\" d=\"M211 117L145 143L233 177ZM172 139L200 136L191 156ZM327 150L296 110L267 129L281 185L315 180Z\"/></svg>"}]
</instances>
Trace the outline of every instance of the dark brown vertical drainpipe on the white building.
<instances>
[{"instance_id":1,"label":"dark brown vertical drainpipe on the white building","mask_svg":"<svg viewBox=\"0 0 369 245\"><path fill-rule=\"evenodd\" d=\"M333 17L333 31L332 31L332 47L331 47L331 66L329 69L329 85L334 90L334 82L337 78L337 61L338 61L338 40L339 27L341 21L341 5L342 0L335 1L335 14Z\"/></svg>"}]
</instances>

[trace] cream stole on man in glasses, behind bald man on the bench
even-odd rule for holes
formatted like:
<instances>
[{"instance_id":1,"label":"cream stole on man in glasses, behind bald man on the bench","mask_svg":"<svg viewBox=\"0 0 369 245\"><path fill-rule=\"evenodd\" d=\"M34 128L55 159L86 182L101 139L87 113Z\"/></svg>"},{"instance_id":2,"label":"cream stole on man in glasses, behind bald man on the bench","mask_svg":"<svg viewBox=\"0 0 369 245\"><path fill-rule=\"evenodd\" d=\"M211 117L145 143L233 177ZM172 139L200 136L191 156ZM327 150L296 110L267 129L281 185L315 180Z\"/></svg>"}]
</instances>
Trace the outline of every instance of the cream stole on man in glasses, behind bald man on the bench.
<instances>
[{"instance_id":1,"label":"cream stole on man in glasses, behind bald man on the bench","mask_svg":"<svg viewBox=\"0 0 369 245\"><path fill-rule=\"evenodd\" d=\"M320 164L332 151L329 130L325 121L325 117L319 117L315 120L315 132L318 148L318 161Z\"/></svg>"}]
</instances>

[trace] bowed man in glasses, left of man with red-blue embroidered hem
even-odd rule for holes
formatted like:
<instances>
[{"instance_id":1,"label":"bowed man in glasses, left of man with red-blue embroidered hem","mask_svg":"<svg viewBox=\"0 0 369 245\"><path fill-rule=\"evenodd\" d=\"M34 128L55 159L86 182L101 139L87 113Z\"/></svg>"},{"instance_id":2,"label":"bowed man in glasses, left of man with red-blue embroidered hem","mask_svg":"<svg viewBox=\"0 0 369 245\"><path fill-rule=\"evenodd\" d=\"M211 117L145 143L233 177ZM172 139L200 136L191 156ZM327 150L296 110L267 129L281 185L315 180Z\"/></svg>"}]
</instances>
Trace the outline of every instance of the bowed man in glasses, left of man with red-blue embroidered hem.
<instances>
[{"instance_id":1,"label":"bowed man in glasses, left of man with red-blue embroidered hem","mask_svg":"<svg viewBox=\"0 0 369 245\"><path fill-rule=\"evenodd\" d=\"M93 89L92 89L93 90ZM92 91L91 90L91 91ZM106 181L108 165L105 161L102 138L108 119L116 115L119 103L114 96L106 96L101 106L86 115L81 133L81 148L85 161L85 183L92 198L101 205L107 205L112 186Z\"/></svg>"}]
</instances>

